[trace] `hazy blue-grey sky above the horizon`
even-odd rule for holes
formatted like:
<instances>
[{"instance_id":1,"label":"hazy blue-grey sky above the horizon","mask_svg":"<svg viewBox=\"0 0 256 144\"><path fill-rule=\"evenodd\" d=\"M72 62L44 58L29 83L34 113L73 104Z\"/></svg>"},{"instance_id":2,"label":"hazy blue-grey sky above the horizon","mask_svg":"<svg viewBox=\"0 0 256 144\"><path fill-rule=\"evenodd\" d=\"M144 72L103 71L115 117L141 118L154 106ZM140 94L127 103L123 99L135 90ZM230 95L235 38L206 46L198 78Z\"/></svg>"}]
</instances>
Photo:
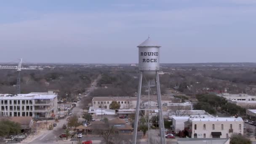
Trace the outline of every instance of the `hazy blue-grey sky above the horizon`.
<instances>
[{"instance_id":1,"label":"hazy blue-grey sky above the horizon","mask_svg":"<svg viewBox=\"0 0 256 144\"><path fill-rule=\"evenodd\" d=\"M3 0L0 62L256 62L256 0Z\"/></svg>"}]
</instances>

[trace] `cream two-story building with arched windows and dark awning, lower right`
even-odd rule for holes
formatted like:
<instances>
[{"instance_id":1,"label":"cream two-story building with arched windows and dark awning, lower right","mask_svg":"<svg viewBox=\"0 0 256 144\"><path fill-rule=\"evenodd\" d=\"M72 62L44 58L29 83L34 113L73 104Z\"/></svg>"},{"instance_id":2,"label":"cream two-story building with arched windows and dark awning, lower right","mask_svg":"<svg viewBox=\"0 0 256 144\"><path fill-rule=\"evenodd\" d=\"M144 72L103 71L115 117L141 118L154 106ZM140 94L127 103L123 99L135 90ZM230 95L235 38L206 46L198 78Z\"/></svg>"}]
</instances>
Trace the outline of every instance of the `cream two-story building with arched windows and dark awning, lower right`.
<instances>
[{"instance_id":1,"label":"cream two-story building with arched windows and dark awning, lower right","mask_svg":"<svg viewBox=\"0 0 256 144\"><path fill-rule=\"evenodd\" d=\"M184 122L190 138L229 138L233 133L243 135L241 117L189 118Z\"/></svg>"}]
</instances>

